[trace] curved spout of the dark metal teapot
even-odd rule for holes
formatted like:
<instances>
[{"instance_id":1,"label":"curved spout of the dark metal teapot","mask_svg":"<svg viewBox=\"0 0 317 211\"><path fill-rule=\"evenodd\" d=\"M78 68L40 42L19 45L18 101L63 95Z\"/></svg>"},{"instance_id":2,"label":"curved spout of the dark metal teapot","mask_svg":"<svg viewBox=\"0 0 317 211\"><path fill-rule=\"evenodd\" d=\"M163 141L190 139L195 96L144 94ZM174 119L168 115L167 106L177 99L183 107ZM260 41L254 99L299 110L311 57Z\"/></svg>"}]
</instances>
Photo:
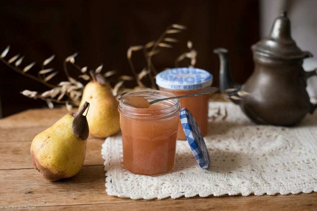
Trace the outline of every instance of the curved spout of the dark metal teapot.
<instances>
[{"instance_id":1,"label":"curved spout of the dark metal teapot","mask_svg":"<svg viewBox=\"0 0 317 211\"><path fill-rule=\"evenodd\" d=\"M226 89L236 88L241 89L241 84L236 84L230 73L228 50L225 48L216 48L213 51L217 53L220 59L220 70L219 70L219 87L220 92L225 93Z\"/></svg>"}]
</instances>

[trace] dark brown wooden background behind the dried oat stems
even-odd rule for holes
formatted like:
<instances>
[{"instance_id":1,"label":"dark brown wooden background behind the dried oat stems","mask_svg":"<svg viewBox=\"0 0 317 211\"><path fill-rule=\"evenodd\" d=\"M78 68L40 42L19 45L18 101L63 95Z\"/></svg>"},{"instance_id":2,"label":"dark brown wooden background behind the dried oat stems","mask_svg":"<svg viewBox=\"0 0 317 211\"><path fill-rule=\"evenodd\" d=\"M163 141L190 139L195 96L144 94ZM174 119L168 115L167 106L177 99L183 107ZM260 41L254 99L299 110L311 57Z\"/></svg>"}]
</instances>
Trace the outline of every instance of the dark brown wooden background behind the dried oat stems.
<instances>
[{"instance_id":1,"label":"dark brown wooden background behind the dried oat stems","mask_svg":"<svg viewBox=\"0 0 317 211\"><path fill-rule=\"evenodd\" d=\"M244 82L253 71L250 45L259 40L256 0L3 0L0 5L0 51L10 45L6 58L16 53L25 55L22 66L36 61L36 66L29 71L34 75L40 70L40 64L55 54L48 65L59 70L50 81L53 84L66 80L62 62L74 52L79 53L76 63L80 66L95 69L103 63L104 72L115 69L119 75L132 75L126 59L129 46L157 39L173 23L188 28L173 35L180 40L173 49L164 49L154 57L157 69L173 67L175 59L187 50L187 40L191 40L198 51L196 67L210 71L215 86L218 85L219 61L212 50L216 47L229 49L237 82ZM143 61L136 56L134 62L140 71ZM76 69L69 71L73 77L80 75ZM20 94L24 89L48 90L0 63L3 116L46 106L41 100Z\"/></svg>"}]
</instances>

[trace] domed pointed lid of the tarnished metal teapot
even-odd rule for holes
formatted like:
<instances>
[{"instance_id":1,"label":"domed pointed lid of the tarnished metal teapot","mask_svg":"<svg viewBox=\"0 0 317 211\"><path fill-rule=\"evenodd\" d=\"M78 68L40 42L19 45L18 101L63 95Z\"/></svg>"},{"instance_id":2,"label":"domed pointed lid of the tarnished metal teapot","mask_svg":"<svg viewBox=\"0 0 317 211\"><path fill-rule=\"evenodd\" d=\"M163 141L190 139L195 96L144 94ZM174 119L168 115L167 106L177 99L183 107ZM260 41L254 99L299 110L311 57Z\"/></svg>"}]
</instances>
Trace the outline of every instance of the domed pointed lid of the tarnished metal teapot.
<instances>
[{"instance_id":1,"label":"domed pointed lid of the tarnished metal teapot","mask_svg":"<svg viewBox=\"0 0 317 211\"><path fill-rule=\"evenodd\" d=\"M254 54L275 59L293 60L307 57L307 52L301 51L292 39L291 23L286 11L282 11L275 19L270 33L252 45L251 49Z\"/></svg>"}]
</instances>

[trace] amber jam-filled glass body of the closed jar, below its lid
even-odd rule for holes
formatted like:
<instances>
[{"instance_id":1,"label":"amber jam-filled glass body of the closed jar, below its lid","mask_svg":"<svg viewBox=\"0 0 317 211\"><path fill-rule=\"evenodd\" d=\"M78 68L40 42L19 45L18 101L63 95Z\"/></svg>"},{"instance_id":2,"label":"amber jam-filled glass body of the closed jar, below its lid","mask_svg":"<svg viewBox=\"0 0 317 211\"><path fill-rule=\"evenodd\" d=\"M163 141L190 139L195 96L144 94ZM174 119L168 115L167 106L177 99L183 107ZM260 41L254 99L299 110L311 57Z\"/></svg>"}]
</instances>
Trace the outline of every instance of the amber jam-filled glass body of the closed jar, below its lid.
<instances>
[{"instance_id":1,"label":"amber jam-filled glass body of the closed jar, below its lid","mask_svg":"<svg viewBox=\"0 0 317 211\"><path fill-rule=\"evenodd\" d=\"M209 86L210 87L210 86ZM209 87L205 87L202 89L194 89L194 90L173 90L173 89L166 89L159 87L160 90L170 92L175 94L176 96L185 95L185 94L191 94L195 92L203 91L204 89L207 89ZM207 134L207 126L208 126L208 98L209 94L203 94L200 96L195 97L185 97L180 98L180 105L181 108L187 108L191 111L192 115L194 116L199 129L203 136L206 136ZM179 140L186 140L186 136L184 134L184 130L182 130L182 124L179 120L179 130L177 133L177 139Z\"/></svg>"}]
</instances>

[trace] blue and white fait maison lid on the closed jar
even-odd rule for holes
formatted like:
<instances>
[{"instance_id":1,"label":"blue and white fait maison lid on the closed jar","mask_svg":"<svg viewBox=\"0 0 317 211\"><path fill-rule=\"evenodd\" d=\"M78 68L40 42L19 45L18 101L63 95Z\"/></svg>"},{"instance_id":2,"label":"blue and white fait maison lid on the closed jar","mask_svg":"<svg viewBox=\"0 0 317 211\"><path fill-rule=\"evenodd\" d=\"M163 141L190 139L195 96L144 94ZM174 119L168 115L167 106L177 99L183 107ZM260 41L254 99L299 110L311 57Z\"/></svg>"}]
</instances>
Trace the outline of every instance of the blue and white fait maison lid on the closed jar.
<instances>
[{"instance_id":1,"label":"blue and white fait maison lid on the closed jar","mask_svg":"<svg viewBox=\"0 0 317 211\"><path fill-rule=\"evenodd\" d=\"M166 89L194 90L211 86L212 79L212 75L203 69L173 68L157 74L156 84Z\"/></svg>"}]
</instances>

